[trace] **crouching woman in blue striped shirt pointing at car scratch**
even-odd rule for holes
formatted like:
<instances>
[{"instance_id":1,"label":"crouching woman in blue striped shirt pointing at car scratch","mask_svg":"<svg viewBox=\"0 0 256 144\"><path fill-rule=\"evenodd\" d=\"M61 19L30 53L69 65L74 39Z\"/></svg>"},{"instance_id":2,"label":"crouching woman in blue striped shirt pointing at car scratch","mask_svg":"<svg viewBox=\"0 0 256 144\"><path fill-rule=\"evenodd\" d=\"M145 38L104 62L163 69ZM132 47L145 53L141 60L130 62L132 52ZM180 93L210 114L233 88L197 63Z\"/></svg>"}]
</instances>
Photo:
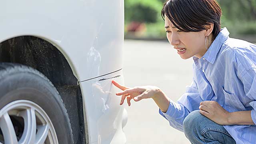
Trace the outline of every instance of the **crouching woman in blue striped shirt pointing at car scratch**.
<instances>
[{"instance_id":1,"label":"crouching woman in blue striped shirt pointing at car scratch","mask_svg":"<svg viewBox=\"0 0 256 144\"><path fill-rule=\"evenodd\" d=\"M256 144L256 45L229 38L221 15L215 0L166 1L166 35L182 59L193 57L193 82L176 103L156 86L112 81L123 90L120 105L152 98L192 144Z\"/></svg>"}]
</instances>

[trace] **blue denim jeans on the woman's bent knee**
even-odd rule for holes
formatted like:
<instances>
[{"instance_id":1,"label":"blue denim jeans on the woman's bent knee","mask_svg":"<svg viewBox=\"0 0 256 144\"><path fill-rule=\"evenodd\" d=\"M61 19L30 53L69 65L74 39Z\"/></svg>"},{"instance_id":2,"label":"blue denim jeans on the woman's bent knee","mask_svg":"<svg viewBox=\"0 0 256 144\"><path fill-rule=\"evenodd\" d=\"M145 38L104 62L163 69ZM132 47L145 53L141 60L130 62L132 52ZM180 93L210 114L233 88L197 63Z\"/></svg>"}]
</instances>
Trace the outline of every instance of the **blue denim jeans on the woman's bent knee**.
<instances>
[{"instance_id":1,"label":"blue denim jeans on the woman's bent knee","mask_svg":"<svg viewBox=\"0 0 256 144\"><path fill-rule=\"evenodd\" d=\"M236 144L226 129L195 110L184 119L185 136L192 144Z\"/></svg>"}]
</instances>

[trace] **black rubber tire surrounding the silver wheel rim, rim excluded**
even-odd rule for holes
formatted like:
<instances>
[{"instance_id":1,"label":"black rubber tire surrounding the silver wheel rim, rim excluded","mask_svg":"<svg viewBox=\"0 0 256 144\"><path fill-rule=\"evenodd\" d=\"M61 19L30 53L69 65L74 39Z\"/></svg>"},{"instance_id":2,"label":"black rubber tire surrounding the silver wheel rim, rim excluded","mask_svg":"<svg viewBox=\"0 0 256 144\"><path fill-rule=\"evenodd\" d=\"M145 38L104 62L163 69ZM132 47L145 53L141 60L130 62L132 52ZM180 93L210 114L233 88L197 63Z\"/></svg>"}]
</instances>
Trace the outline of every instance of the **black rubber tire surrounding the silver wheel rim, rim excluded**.
<instances>
[{"instance_id":1,"label":"black rubber tire surrounding the silver wheel rim, rim excluded","mask_svg":"<svg viewBox=\"0 0 256 144\"><path fill-rule=\"evenodd\" d=\"M15 100L31 100L50 117L59 144L74 144L72 128L63 100L48 78L31 67L0 63L0 109Z\"/></svg>"}]
</instances>

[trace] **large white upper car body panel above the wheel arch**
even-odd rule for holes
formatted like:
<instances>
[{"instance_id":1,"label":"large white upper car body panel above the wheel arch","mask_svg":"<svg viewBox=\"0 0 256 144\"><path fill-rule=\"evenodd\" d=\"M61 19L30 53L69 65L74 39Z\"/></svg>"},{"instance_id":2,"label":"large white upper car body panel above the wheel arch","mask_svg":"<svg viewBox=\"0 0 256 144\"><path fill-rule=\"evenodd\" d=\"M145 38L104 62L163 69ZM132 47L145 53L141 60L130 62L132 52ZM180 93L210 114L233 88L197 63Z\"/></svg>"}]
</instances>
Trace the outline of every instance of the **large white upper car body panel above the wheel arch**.
<instances>
[{"instance_id":1,"label":"large white upper car body panel above the wheel arch","mask_svg":"<svg viewBox=\"0 0 256 144\"><path fill-rule=\"evenodd\" d=\"M78 81L122 68L123 0L1 0L0 42L36 36L56 46Z\"/></svg>"}]
</instances>

